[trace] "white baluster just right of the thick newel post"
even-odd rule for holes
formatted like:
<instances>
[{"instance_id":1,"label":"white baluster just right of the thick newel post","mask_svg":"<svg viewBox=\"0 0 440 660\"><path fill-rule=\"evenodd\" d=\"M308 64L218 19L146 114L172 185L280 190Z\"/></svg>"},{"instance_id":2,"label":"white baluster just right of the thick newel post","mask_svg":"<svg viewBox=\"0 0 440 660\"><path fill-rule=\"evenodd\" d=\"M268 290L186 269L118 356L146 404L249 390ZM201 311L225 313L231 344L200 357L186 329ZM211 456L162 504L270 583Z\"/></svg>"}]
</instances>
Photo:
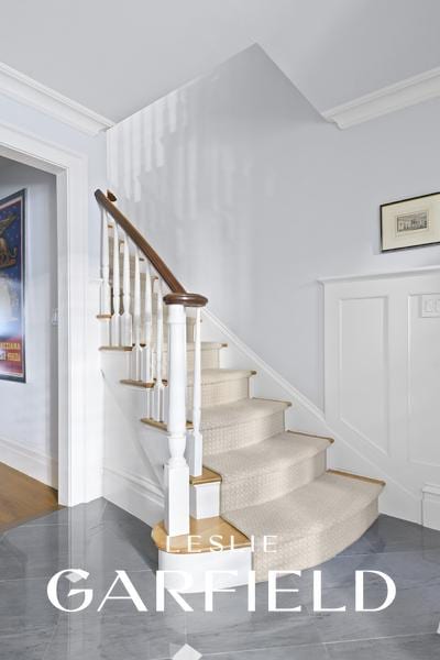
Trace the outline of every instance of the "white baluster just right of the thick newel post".
<instances>
[{"instance_id":1,"label":"white baluster just right of the thick newel post","mask_svg":"<svg viewBox=\"0 0 440 660\"><path fill-rule=\"evenodd\" d=\"M193 476L200 476L204 470L201 418L201 344L200 344L200 308L196 310L194 332L194 377L193 377L193 431L188 438L189 471Z\"/></svg>"}]
</instances>

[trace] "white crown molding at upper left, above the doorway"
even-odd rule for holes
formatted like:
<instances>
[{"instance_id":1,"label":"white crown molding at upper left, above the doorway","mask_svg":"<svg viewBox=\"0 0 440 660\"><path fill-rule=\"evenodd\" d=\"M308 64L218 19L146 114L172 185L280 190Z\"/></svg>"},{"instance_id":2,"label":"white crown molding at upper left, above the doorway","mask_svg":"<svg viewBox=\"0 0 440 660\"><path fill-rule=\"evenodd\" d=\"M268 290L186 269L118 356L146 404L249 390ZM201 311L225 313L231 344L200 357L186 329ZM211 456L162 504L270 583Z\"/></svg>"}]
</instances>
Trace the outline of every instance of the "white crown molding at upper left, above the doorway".
<instances>
[{"instance_id":1,"label":"white crown molding at upper left, above the doorway","mask_svg":"<svg viewBox=\"0 0 440 660\"><path fill-rule=\"evenodd\" d=\"M96 135L114 122L0 62L0 94L31 106L77 131Z\"/></svg>"}]
</instances>

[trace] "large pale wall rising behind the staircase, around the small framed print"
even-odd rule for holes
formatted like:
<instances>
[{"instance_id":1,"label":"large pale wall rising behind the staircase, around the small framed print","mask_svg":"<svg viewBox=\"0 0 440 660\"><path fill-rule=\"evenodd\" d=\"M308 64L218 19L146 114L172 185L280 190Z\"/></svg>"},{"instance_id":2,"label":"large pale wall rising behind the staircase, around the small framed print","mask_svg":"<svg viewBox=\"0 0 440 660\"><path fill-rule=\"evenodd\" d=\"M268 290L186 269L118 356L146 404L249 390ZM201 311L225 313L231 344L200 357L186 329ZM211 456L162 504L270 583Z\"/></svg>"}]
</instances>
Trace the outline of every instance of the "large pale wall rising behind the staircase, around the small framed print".
<instances>
[{"instance_id":1,"label":"large pale wall rising behind the staircase, around the small framed print","mask_svg":"<svg viewBox=\"0 0 440 660\"><path fill-rule=\"evenodd\" d=\"M323 406L322 276L438 264L381 254L382 202L439 189L440 101L349 131L252 47L108 132L111 186L176 275Z\"/></svg>"}]
</instances>

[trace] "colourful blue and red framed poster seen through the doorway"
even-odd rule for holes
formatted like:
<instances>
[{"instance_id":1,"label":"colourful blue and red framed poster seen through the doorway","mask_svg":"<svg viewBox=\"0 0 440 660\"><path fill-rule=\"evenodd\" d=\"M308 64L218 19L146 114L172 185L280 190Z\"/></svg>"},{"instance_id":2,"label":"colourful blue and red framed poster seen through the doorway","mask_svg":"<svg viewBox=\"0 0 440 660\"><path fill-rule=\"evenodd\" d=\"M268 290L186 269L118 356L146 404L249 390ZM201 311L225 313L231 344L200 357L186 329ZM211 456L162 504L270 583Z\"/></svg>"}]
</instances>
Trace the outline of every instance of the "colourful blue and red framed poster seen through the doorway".
<instances>
[{"instance_id":1,"label":"colourful blue and red framed poster seen through the doorway","mask_svg":"<svg viewBox=\"0 0 440 660\"><path fill-rule=\"evenodd\" d=\"M25 382L24 221L26 191L0 200L0 378Z\"/></svg>"}]
</instances>

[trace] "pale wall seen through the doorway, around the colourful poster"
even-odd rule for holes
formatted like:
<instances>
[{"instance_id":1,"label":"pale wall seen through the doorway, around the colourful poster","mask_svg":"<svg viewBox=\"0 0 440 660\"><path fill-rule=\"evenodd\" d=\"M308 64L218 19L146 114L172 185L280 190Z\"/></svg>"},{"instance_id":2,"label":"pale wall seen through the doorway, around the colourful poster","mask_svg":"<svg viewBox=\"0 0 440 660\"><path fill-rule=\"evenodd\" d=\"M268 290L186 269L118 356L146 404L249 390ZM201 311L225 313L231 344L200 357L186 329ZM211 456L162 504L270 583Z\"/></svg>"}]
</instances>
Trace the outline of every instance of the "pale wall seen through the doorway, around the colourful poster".
<instances>
[{"instance_id":1,"label":"pale wall seen through the doorway, around the colourful poster","mask_svg":"<svg viewBox=\"0 0 440 660\"><path fill-rule=\"evenodd\" d=\"M33 167L0 158L0 198L26 188L25 361L26 383L0 381L0 461L33 455L54 472L57 459L56 180ZM41 461L38 461L41 459ZM43 473L44 474L44 473Z\"/></svg>"}]
</instances>

